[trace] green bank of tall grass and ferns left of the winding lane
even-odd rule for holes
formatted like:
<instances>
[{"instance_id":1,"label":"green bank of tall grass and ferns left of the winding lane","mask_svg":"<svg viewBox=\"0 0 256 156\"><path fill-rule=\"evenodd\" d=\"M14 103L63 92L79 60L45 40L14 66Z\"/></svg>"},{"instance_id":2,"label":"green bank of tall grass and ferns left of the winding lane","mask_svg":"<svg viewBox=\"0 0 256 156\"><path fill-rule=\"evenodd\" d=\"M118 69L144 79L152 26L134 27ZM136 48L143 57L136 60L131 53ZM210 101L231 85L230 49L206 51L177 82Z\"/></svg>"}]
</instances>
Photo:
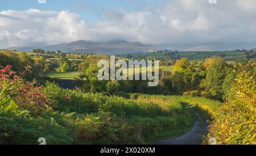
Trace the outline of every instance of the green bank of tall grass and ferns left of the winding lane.
<instances>
[{"instance_id":1,"label":"green bank of tall grass and ferns left of the winding lane","mask_svg":"<svg viewBox=\"0 0 256 156\"><path fill-rule=\"evenodd\" d=\"M186 109L158 99L138 100L83 93L47 83L51 107L39 116L20 108L10 96L0 99L0 144L144 144L157 136L175 136L191 127ZM146 96L146 95L144 95ZM163 135L164 133L164 135Z\"/></svg>"}]
</instances>

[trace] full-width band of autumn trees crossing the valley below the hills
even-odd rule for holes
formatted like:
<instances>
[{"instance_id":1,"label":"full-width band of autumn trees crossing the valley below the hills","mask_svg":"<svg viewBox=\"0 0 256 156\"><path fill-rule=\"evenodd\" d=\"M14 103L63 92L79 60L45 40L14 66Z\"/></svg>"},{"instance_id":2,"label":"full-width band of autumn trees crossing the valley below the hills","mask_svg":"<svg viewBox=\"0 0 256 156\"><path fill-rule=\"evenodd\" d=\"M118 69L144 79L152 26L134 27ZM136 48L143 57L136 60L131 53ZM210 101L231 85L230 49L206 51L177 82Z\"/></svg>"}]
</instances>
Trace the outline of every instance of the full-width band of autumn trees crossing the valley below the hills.
<instances>
[{"instance_id":1,"label":"full-width band of autumn trees crossing the valley below the hills","mask_svg":"<svg viewBox=\"0 0 256 156\"><path fill-rule=\"evenodd\" d=\"M67 57L80 57L80 54L67 54ZM126 95L130 92L164 95L193 95L222 100L230 90L240 65L250 73L255 73L255 60L237 60L228 64L221 57L210 57L203 61L189 61L181 58L171 62L174 72L159 71L159 85L148 87L147 81L99 81L97 78L97 61L106 60L108 56L85 54L84 60L68 58L47 59L31 58L26 53L0 53L0 65L12 65L14 70L23 71L26 65L32 66L28 79L37 78L39 73L47 71L80 71L79 80L84 81L81 87L84 92L105 92L105 94ZM151 58L148 58L151 59ZM163 61L168 63L167 60ZM163 65L166 65L163 64ZM168 68L168 67L167 67ZM170 67L171 68L171 67Z\"/></svg>"}]
</instances>

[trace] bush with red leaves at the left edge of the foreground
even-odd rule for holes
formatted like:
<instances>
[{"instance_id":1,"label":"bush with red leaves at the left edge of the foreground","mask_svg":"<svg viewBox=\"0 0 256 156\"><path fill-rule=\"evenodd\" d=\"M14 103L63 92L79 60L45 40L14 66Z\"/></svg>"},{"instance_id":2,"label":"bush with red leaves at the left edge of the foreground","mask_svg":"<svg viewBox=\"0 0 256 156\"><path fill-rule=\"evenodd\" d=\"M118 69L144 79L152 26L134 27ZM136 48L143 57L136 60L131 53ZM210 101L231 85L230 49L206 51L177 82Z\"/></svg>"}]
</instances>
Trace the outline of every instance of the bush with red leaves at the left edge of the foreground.
<instances>
[{"instance_id":1,"label":"bush with red leaves at the left edge of the foreground","mask_svg":"<svg viewBox=\"0 0 256 156\"><path fill-rule=\"evenodd\" d=\"M33 116L39 116L43 108L49 107L48 97L42 86L24 81L26 72L31 72L31 66L26 66L23 73L16 73L7 65L0 69L0 98L10 96L20 109L26 109Z\"/></svg>"}]
</instances>

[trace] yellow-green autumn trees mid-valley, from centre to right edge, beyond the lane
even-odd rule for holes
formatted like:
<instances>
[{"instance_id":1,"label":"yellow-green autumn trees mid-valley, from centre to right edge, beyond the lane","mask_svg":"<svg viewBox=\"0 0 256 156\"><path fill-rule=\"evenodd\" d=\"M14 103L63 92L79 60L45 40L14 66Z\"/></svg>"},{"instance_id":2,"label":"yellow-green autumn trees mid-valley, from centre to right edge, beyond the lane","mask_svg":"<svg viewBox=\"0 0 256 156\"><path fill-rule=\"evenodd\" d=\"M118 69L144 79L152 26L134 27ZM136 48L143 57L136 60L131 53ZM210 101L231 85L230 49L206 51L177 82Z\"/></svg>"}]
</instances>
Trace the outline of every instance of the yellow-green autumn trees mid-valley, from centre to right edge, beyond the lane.
<instances>
[{"instance_id":1,"label":"yellow-green autumn trees mid-valley, from centre to right edge, beyond the lane","mask_svg":"<svg viewBox=\"0 0 256 156\"><path fill-rule=\"evenodd\" d=\"M85 92L106 92L125 95L129 92L161 95L193 95L222 101L230 90L240 65L250 73L255 73L255 60L237 60L228 64L221 57L210 57L204 61L189 61L181 58L174 64L174 72L160 70L160 82L156 87L148 87L147 81L98 81L95 60L82 62L80 71L85 83Z\"/></svg>"}]
</instances>

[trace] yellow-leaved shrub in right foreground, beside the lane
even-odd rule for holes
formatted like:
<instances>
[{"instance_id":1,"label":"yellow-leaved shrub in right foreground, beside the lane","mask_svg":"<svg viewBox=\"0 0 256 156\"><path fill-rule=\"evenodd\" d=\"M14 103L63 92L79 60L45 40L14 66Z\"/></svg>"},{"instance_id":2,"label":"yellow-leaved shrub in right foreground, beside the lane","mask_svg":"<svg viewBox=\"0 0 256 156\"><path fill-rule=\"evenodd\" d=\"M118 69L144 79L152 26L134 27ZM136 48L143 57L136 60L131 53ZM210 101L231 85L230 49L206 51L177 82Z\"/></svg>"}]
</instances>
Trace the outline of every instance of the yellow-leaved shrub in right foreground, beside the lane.
<instances>
[{"instance_id":1,"label":"yellow-leaved shrub in right foreground, beside the lane","mask_svg":"<svg viewBox=\"0 0 256 156\"><path fill-rule=\"evenodd\" d=\"M211 125L209 137L218 144L256 144L255 73L238 74L225 99L223 113Z\"/></svg>"}]
</instances>

